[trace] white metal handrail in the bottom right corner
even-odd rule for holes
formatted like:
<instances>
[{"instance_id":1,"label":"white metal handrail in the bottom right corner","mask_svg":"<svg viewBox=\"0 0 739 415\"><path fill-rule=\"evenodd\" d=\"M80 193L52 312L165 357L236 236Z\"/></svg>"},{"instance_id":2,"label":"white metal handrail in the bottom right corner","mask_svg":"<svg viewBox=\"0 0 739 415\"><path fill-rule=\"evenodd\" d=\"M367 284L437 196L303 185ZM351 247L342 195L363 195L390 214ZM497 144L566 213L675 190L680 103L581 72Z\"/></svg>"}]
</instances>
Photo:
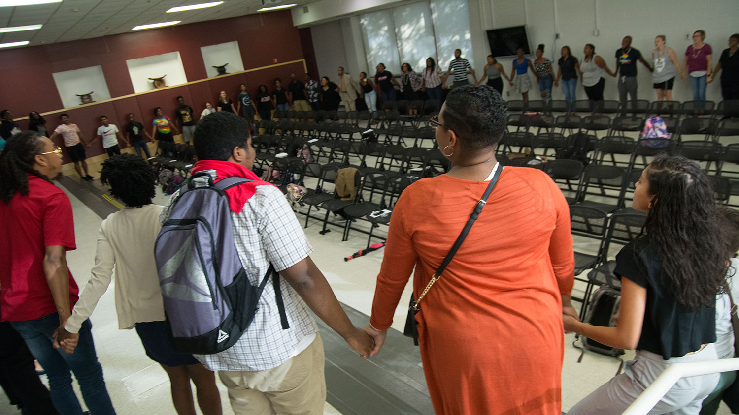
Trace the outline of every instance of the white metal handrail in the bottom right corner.
<instances>
[{"instance_id":1,"label":"white metal handrail in the bottom right corner","mask_svg":"<svg viewBox=\"0 0 739 415\"><path fill-rule=\"evenodd\" d=\"M641 392L638 398L621 415L647 415L657 402L670 391L681 377L739 370L739 358L706 360L704 362L674 363Z\"/></svg>"}]
</instances>

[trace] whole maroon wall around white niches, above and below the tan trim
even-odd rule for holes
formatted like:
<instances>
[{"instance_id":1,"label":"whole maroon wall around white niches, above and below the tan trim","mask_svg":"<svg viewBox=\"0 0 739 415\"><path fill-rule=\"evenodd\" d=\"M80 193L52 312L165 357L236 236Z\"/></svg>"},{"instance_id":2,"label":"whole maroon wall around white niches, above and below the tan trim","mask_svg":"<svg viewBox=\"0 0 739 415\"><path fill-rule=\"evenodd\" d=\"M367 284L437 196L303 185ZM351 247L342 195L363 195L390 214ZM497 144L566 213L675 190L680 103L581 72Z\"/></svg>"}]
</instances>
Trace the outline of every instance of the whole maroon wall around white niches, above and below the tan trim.
<instances>
[{"instance_id":1,"label":"whole maroon wall around white niches, above and below the tan trim","mask_svg":"<svg viewBox=\"0 0 739 415\"><path fill-rule=\"evenodd\" d=\"M277 63L285 63L304 58L302 39L299 30L293 27L289 11L245 15L45 46L7 49L0 51L0 74L3 74L0 109L10 109L18 118L27 116L30 111L40 113L54 111L54 114L44 116L47 120L47 129L52 131L59 124L58 116L63 112L52 73L100 65L111 97L122 97L134 94L126 60L179 51L185 75L191 82L207 77L200 47L231 41L239 42L245 69L273 65L275 59ZM290 72L302 74L303 63L290 63L246 74L212 77L200 83L65 112L89 141L95 136L101 115L108 116L113 124L123 130L127 123L126 114L132 112L136 115L137 121L142 122L150 130L151 121L154 119L152 110L157 106L163 108L165 115L174 119L177 95L185 98L185 102L191 105L199 118L200 111L205 108L205 102L215 103L219 91L227 91L228 97L236 100L239 84L246 83L251 94L256 96L259 84L265 83L272 91L273 79L281 77L285 85L290 80ZM299 79L302 79L302 76ZM27 128L28 121L20 120L18 124L21 128ZM61 138L55 141L57 145L62 145ZM90 157L102 153L104 150L101 142L92 144L92 147L87 149L87 156ZM69 162L66 150L64 162Z\"/></svg>"}]
</instances>

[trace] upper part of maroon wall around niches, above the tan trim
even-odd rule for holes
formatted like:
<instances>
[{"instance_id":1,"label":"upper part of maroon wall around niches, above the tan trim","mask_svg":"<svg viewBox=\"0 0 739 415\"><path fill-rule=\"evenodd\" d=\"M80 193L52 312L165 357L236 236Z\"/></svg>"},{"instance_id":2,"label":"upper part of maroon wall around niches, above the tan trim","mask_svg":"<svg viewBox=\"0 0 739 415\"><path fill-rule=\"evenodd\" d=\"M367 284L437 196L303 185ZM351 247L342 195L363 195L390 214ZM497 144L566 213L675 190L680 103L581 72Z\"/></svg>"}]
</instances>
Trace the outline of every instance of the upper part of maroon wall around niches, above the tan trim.
<instances>
[{"instance_id":1,"label":"upper part of maroon wall around niches, above the tan trim","mask_svg":"<svg viewBox=\"0 0 739 415\"><path fill-rule=\"evenodd\" d=\"M283 63L303 58L290 11L6 49L0 51L0 109L10 109L18 117L57 110L62 104L52 73L97 65L103 68L111 97L133 94L126 60L168 52L180 52L188 81L200 80L207 77L200 47L230 41L239 41L246 69L272 65L274 59ZM256 82L274 77L289 78L290 72L278 67ZM250 86L252 90L256 93L256 86Z\"/></svg>"}]
</instances>

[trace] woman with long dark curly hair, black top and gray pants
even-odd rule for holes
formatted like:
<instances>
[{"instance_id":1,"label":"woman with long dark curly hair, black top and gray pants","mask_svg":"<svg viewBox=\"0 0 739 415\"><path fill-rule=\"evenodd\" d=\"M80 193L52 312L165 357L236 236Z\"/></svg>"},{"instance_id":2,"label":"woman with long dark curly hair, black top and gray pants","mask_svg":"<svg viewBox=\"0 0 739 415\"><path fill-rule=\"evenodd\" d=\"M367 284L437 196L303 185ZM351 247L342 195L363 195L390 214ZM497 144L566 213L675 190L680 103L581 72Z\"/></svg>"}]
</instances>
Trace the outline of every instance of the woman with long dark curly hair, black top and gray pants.
<instances>
[{"instance_id":1,"label":"woman with long dark curly hair, black top and gray pants","mask_svg":"<svg viewBox=\"0 0 739 415\"><path fill-rule=\"evenodd\" d=\"M590 326L569 315L564 322L566 330L607 346L636 349L636 358L568 415L621 414L672 363L718 358L715 301L728 265L709 178L687 158L658 156L636 182L632 206L647 220L640 237L616 255L619 324ZM718 378L678 380L650 414L698 414Z\"/></svg>"}]
</instances>

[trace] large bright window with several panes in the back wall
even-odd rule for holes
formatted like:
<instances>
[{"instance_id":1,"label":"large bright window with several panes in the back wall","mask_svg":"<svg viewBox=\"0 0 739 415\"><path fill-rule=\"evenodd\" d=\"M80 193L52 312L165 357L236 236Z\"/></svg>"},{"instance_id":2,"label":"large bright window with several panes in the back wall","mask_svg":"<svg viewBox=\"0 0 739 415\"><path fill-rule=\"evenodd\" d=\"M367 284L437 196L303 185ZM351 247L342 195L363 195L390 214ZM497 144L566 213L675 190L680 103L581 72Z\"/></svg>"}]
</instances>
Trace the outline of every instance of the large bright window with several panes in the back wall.
<instances>
[{"instance_id":1,"label":"large bright window with several panes in the back wall","mask_svg":"<svg viewBox=\"0 0 739 415\"><path fill-rule=\"evenodd\" d=\"M448 69L457 48L474 66L466 0L419 1L366 13L359 21L370 71L382 62L399 74L407 62L421 72L427 57Z\"/></svg>"}]
</instances>

